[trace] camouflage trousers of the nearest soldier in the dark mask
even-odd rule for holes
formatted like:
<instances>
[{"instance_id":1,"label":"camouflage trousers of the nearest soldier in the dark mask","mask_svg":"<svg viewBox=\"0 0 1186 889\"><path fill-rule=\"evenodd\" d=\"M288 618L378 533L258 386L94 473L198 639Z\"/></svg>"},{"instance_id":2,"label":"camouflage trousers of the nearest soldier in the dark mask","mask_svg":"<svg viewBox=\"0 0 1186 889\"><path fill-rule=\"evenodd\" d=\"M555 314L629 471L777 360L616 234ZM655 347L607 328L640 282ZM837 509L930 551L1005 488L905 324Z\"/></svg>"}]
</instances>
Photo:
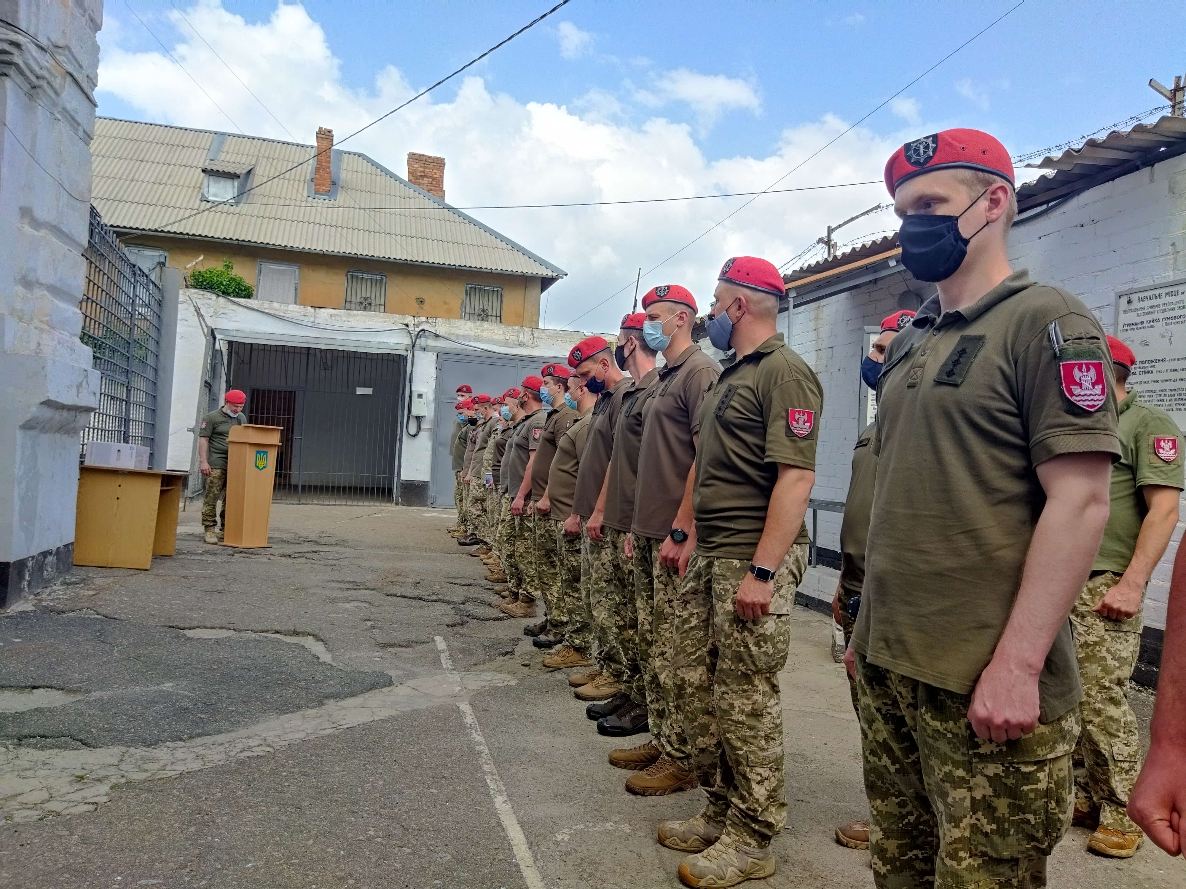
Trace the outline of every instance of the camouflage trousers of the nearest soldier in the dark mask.
<instances>
[{"instance_id":1,"label":"camouflage trousers of the nearest soldier in the dark mask","mask_svg":"<svg viewBox=\"0 0 1186 889\"><path fill-rule=\"evenodd\" d=\"M1071 826L1072 708L1016 741L984 741L971 695L856 655L865 792L878 889L1037 889Z\"/></svg>"}]
</instances>

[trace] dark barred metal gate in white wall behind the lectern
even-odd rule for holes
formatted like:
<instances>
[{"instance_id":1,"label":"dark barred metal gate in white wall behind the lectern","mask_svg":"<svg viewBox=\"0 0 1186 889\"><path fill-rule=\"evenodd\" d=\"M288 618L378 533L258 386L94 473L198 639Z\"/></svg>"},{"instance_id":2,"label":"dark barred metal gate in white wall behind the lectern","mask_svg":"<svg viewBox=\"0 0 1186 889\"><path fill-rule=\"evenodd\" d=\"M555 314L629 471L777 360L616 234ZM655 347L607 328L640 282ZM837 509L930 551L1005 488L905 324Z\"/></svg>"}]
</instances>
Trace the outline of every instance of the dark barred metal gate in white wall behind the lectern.
<instances>
[{"instance_id":1,"label":"dark barred metal gate in white wall behind the lectern","mask_svg":"<svg viewBox=\"0 0 1186 889\"><path fill-rule=\"evenodd\" d=\"M279 426L276 503L395 500L403 356L230 344L250 423Z\"/></svg>"}]
</instances>

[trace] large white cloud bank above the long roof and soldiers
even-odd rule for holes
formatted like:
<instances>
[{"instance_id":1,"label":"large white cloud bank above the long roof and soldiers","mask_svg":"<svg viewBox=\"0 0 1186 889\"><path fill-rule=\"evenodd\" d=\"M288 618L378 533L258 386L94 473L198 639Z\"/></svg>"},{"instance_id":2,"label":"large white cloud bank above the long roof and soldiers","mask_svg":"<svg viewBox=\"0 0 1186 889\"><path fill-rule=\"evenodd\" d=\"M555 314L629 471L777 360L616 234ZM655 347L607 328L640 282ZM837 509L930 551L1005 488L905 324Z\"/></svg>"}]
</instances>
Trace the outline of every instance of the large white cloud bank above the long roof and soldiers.
<instances>
[{"instance_id":1,"label":"large white cloud bank above the long roof and soldiers","mask_svg":"<svg viewBox=\"0 0 1186 889\"><path fill-rule=\"evenodd\" d=\"M257 23L227 12L216 0L185 8L185 15L296 141L311 145L319 126L331 127L340 139L414 94L394 66L376 71L369 89L344 85L325 33L299 5L281 5ZM254 135L289 139L186 25L179 19L174 24L177 41L162 30L158 33L218 104ZM505 52L516 49L512 45ZM398 63L398 56L394 60ZM117 96L142 120L235 129L162 52L130 52L104 39L98 79L101 113L103 102ZM699 110L759 108L752 85L727 77L672 72L662 84L655 84L653 91L662 92L664 101L687 102ZM444 155L448 160L445 187L458 205L621 200L758 191L848 126L829 115L786 127L765 156L712 158L697 143L691 126L659 116L643 120L637 107L631 109L633 116L617 110L597 90L569 105L521 102L492 91L480 76L470 76L343 147L401 174L409 151ZM897 134L880 137L857 128L777 187L878 181L885 159L901 141ZM643 289L680 282L707 306L723 258L750 254L783 263L829 223L884 199L878 185L761 197L658 271L644 275ZM547 294L550 326L566 325L629 283L575 325L605 331L630 308L639 266L646 271L744 200L473 215L568 271ZM885 218L872 217L847 226L843 235L852 239L885 228Z\"/></svg>"}]
</instances>

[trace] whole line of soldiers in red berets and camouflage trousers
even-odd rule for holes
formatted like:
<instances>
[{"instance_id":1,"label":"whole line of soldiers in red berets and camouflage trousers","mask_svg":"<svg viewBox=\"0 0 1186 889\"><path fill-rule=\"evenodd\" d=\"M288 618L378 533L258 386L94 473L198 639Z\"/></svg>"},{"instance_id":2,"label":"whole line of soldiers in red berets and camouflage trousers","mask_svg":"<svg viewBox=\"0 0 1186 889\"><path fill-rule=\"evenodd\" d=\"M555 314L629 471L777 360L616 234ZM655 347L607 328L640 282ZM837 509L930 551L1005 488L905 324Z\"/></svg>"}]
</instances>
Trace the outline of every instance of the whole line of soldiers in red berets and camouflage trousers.
<instances>
[{"instance_id":1,"label":"whole line of soldiers in red berets and camouflage trousers","mask_svg":"<svg viewBox=\"0 0 1186 889\"><path fill-rule=\"evenodd\" d=\"M1041 887L1072 818L1103 855L1142 839L1124 689L1181 436L1126 390L1135 357L1079 300L1009 267L997 140L908 142L886 186L901 261L938 294L887 318L861 371L878 420L854 452L834 615L869 818L836 836L871 849L882 889ZM778 671L823 390L776 330L784 296L765 260L723 264L706 330L725 369L693 341L693 294L664 284L616 347L588 337L500 396L458 390L453 533L505 582L508 614L543 599L524 632L546 666L579 669L598 731L650 733L610 754L626 789L704 791L657 827L691 887L772 875L786 819Z\"/></svg>"}]
</instances>

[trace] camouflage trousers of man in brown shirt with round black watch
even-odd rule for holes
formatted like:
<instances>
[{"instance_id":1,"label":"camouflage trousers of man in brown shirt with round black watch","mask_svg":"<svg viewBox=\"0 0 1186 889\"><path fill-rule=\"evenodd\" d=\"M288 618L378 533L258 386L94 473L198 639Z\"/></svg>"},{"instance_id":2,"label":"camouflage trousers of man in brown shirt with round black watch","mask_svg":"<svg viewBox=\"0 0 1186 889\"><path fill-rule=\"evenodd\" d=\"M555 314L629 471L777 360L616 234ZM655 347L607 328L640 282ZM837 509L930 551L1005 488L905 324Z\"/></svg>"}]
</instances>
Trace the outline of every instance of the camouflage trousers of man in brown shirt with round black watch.
<instances>
[{"instance_id":1,"label":"camouflage trousers of man in brown shirt with round black watch","mask_svg":"<svg viewBox=\"0 0 1186 889\"><path fill-rule=\"evenodd\" d=\"M638 613L638 663L642 665L646 719L651 736L668 759L690 768L691 748L677 708L675 673L676 601L680 573L659 564L663 541L635 535L635 599Z\"/></svg>"}]
</instances>

